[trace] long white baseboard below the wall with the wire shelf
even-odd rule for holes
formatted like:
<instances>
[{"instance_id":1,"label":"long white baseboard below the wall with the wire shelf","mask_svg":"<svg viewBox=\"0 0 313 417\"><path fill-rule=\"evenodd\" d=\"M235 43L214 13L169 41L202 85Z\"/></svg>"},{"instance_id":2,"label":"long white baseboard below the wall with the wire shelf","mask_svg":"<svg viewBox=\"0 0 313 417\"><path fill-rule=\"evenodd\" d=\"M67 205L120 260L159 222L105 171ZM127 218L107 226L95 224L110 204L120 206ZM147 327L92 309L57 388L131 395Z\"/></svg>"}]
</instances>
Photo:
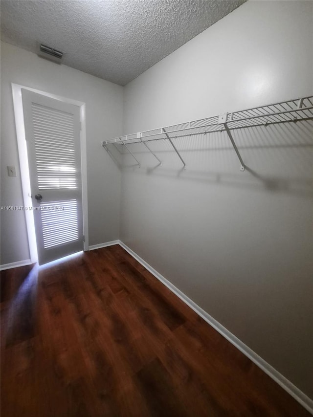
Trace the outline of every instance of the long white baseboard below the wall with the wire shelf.
<instances>
[{"instance_id":1,"label":"long white baseboard below the wall with the wire shelf","mask_svg":"<svg viewBox=\"0 0 313 417\"><path fill-rule=\"evenodd\" d=\"M225 339L233 344L239 351L244 353L252 362L254 362L259 368L268 374L278 385L280 385L285 391L288 392L296 401L298 401L306 410L313 414L313 400L299 390L292 384L284 375L276 371L268 362L261 358L257 353L252 351L246 346L238 337L232 334L229 330L224 328L217 320L211 317L206 311L194 303L189 297L181 292L175 285L171 284L166 278L159 274L152 266L138 256L131 248L129 248L122 241L118 241L119 245L125 249L132 257L141 263L149 272L151 272L161 283L166 285L174 294L176 294L187 306L192 308L203 320L205 320L210 326L216 329Z\"/></svg>"}]
</instances>

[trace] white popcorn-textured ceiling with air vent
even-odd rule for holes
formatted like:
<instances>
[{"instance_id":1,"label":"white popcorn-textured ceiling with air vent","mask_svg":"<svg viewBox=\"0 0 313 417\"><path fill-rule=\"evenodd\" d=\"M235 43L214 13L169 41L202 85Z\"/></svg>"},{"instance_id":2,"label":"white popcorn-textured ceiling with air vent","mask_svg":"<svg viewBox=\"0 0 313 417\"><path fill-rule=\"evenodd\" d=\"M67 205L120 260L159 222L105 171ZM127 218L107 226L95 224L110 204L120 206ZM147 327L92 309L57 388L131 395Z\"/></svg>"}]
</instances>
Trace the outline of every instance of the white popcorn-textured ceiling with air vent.
<instances>
[{"instance_id":1,"label":"white popcorn-textured ceiling with air vent","mask_svg":"<svg viewBox=\"0 0 313 417\"><path fill-rule=\"evenodd\" d=\"M246 0L1 0L1 39L124 86Z\"/></svg>"}]
</instances>

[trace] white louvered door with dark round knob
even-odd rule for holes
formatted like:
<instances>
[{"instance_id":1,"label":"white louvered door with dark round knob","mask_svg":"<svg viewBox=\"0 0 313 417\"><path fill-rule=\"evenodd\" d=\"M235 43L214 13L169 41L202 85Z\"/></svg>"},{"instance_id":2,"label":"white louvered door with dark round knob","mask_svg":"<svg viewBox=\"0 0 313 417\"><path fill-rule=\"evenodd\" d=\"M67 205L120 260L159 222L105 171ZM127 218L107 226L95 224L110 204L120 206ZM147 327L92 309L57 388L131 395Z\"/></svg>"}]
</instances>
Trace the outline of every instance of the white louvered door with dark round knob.
<instances>
[{"instance_id":1,"label":"white louvered door with dark round knob","mask_svg":"<svg viewBox=\"0 0 313 417\"><path fill-rule=\"evenodd\" d=\"M79 107L22 89L39 264L83 250Z\"/></svg>"}]
</instances>

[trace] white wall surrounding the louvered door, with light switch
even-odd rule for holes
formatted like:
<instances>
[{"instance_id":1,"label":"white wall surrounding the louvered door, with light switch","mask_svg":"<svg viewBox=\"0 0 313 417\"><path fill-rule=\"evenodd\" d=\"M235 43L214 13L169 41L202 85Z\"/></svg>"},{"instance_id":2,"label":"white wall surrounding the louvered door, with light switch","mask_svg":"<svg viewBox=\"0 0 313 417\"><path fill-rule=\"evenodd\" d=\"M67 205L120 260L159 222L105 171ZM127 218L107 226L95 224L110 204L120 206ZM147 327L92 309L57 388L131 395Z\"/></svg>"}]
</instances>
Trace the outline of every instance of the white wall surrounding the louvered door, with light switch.
<instances>
[{"instance_id":1,"label":"white wall surrounding the louvered door, with light switch","mask_svg":"<svg viewBox=\"0 0 313 417\"><path fill-rule=\"evenodd\" d=\"M1 42L1 206L23 206L11 83L86 103L89 245L118 239L121 176L100 143L121 132L123 88ZM24 213L2 210L1 264L26 259Z\"/></svg>"}]
</instances>

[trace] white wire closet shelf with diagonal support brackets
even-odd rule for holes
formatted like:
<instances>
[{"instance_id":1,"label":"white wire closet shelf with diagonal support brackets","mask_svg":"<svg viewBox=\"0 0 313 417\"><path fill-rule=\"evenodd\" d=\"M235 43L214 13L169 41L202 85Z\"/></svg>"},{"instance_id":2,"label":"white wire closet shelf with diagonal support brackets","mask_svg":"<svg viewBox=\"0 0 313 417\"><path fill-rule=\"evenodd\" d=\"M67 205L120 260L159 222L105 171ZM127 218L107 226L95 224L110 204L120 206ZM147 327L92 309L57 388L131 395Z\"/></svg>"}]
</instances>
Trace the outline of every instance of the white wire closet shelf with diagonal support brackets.
<instances>
[{"instance_id":1,"label":"white wire closet shelf with diagonal support brackets","mask_svg":"<svg viewBox=\"0 0 313 417\"><path fill-rule=\"evenodd\" d=\"M139 161L128 148L128 145L141 142L152 154L154 154L146 142L168 139L175 152L178 154L185 169L186 164L179 154L179 151L175 147L172 141L173 139L185 136L225 131L228 134L234 150L241 162L241 171L244 171L245 164L232 137L232 130L257 126L268 126L280 123L297 123L304 120L313 120L313 96L255 107L253 109L234 111L231 113L222 113L218 116L207 117L205 119L199 119L191 122L179 123L177 125L166 126L163 128L151 129L144 132L136 132L128 135L118 136L112 139L104 140L102 142L102 146L107 151L107 145L110 144L119 143L125 146L127 151L132 154L140 167ZM154 156L156 159L158 159L156 154L154 154ZM161 163L159 159L158 161Z\"/></svg>"}]
</instances>

